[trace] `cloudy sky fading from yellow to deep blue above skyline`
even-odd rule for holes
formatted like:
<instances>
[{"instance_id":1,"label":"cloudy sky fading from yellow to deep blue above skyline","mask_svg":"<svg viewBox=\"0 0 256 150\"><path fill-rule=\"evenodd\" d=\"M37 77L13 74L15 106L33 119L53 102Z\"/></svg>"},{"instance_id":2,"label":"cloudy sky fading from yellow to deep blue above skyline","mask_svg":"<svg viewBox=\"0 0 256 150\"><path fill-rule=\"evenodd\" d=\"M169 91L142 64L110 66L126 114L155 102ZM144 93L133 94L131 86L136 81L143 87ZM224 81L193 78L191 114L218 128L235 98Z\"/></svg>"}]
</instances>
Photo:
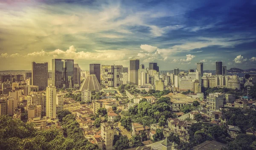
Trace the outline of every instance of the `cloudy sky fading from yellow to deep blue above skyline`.
<instances>
[{"instance_id":1,"label":"cloudy sky fading from yellow to deep blue above skyline","mask_svg":"<svg viewBox=\"0 0 256 150\"><path fill-rule=\"evenodd\" d=\"M256 68L256 0L0 0L0 70L74 59Z\"/></svg>"}]
</instances>

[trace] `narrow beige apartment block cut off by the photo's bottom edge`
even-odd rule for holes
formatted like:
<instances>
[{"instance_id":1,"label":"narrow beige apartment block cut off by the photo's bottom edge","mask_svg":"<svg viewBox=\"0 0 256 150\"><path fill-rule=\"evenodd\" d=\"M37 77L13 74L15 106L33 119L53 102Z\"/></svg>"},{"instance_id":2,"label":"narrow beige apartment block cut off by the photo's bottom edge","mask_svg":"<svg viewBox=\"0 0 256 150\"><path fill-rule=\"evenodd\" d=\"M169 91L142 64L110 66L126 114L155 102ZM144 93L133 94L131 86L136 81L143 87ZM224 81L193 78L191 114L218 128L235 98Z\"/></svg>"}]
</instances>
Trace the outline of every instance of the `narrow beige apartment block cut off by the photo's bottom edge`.
<instances>
[{"instance_id":1,"label":"narrow beige apartment block cut off by the photo's bottom edge","mask_svg":"<svg viewBox=\"0 0 256 150\"><path fill-rule=\"evenodd\" d=\"M100 135L103 138L102 150L113 150L114 127L108 123L101 123Z\"/></svg>"}]
</instances>

